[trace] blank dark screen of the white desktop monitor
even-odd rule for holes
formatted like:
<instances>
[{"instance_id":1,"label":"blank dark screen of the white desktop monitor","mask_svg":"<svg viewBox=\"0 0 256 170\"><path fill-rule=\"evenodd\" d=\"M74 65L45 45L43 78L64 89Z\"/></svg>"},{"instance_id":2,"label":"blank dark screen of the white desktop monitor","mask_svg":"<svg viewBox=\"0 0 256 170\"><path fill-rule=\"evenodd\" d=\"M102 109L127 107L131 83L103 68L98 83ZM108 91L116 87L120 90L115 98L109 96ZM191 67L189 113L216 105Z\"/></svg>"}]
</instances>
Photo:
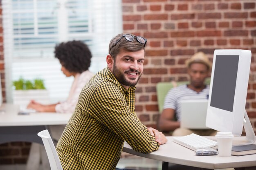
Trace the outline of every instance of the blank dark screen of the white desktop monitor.
<instances>
[{"instance_id":1,"label":"blank dark screen of the white desktop monitor","mask_svg":"<svg viewBox=\"0 0 256 170\"><path fill-rule=\"evenodd\" d=\"M232 112L239 55L216 55L210 106Z\"/></svg>"}]
</instances>

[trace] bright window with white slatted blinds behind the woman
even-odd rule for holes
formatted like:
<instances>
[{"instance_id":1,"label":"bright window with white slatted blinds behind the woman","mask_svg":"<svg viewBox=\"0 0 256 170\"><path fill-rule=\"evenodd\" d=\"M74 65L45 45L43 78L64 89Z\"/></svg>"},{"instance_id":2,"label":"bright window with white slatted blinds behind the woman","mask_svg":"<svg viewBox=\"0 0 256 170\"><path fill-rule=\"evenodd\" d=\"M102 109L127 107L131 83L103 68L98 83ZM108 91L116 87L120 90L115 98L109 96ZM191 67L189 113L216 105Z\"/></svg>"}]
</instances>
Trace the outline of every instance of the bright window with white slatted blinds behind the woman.
<instances>
[{"instance_id":1,"label":"bright window with white slatted blinds behind the woman","mask_svg":"<svg viewBox=\"0 0 256 170\"><path fill-rule=\"evenodd\" d=\"M106 67L108 44L122 32L121 0L2 0L7 102L12 81L42 78L52 102L65 99L73 78L61 72L54 46L81 40L92 51L90 71Z\"/></svg>"}]
</instances>

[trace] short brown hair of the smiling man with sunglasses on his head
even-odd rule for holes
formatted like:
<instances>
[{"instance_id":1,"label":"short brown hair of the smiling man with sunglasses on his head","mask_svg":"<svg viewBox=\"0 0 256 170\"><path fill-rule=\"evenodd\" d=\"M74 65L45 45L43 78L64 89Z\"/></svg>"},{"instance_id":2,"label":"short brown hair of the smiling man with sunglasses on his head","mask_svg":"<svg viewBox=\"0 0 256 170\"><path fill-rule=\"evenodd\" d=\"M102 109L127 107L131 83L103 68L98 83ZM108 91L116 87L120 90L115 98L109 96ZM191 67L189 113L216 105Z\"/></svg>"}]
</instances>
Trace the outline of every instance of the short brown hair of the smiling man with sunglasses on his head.
<instances>
[{"instance_id":1,"label":"short brown hair of the smiling man with sunglasses on his head","mask_svg":"<svg viewBox=\"0 0 256 170\"><path fill-rule=\"evenodd\" d=\"M113 57L114 60L121 51L136 52L144 49L144 44L138 42L136 38L134 38L133 41L128 41L125 37L121 38L125 34L126 33L118 34L117 36L112 38L112 40L110 40L108 53ZM133 34L130 35L135 36ZM119 38L121 38L121 40L117 43L117 40L119 40Z\"/></svg>"}]
</instances>

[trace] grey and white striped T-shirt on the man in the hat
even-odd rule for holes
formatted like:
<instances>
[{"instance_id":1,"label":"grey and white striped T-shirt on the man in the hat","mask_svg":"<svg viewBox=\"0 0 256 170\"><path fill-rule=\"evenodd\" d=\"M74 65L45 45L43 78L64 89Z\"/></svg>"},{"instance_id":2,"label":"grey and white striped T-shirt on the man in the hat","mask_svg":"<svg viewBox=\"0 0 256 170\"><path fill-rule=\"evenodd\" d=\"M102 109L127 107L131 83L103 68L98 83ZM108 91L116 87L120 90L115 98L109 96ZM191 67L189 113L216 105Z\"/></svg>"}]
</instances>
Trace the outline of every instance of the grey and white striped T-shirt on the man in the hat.
<instances>
[{"instance_id":1,"label":"grey and white striped T-shirt on the man in the hat","mask_svg":"<svg viewBox=\"0 0 256 170\"><path fill-rule=\"evenodd\" d=\"M209 85L202 91L196 92L191 88L188 88L186 84L182 84L178 87L172 88L168 91L164 99L164 109L171 108L175 110L175 117L177 121L180 121L180 102L187 99L208 99L209 97Z\"/></svg>"}]
</instances>

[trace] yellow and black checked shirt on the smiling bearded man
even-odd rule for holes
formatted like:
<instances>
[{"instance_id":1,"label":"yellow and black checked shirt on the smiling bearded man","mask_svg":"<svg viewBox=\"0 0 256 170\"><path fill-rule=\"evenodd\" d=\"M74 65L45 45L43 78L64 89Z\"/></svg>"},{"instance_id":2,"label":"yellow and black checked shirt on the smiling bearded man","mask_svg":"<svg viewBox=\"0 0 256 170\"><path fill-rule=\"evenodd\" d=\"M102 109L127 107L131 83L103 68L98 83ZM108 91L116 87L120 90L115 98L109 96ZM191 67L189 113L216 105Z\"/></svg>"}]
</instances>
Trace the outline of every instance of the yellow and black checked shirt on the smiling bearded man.
<instances>
[{"instance_id":1,"label":"yellow and black checked shirt on the smiling bearded man","mask_svg":"<svg viewBox=\"0 0 256 170\"><path fill-rule=\"evenodd\" d=\"M114 170L124 141L142 153L159 148L135 113L135 87L121 86L107 67L81 91L56 150L63 170Z\"/></svg>"}]
</instances>

